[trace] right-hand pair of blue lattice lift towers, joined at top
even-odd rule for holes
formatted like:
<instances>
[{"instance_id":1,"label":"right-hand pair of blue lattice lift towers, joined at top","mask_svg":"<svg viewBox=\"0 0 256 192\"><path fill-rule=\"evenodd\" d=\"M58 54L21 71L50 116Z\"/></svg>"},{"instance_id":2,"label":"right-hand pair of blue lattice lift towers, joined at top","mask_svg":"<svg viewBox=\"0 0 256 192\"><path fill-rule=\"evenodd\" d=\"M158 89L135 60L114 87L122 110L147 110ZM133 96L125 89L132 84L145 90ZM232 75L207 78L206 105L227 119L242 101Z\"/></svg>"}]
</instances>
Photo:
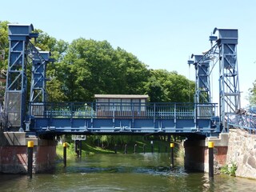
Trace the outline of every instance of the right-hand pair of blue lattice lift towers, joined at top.
<instances>
[{"instance_id":1,"label":"right-hand pair of blue lattice lift towers, joined at top","mask_svg":"<svg viewBox=\"0 0 256 192\"><path fill-rule=\"evenodd\" d=\"M211 48L202 55L194 55L196 70L196 93L194 102L211 102L210 97L210 62L219 62L219 114L222 131L226 131L226 118L228 114L234 114L241 108L240 90L238 81L237 45L238 30L214 29L213 34L218 31L218 37L210 36ZM212 42L216 44L212 46ZM203 99L202 99L203 98Z\"/></svg>"}]
</instances>

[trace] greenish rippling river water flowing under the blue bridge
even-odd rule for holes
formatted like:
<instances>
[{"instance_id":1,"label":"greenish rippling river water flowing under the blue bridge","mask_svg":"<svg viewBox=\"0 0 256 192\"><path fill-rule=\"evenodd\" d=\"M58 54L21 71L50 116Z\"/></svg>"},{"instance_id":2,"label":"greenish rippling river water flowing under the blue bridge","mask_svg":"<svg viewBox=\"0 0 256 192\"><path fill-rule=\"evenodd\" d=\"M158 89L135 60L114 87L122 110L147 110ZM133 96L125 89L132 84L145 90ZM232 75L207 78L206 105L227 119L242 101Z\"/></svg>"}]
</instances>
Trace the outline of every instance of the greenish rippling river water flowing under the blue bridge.
<instances>
[{"instance_id":1,"label":"greenish rippling river water flowing under the blue bridge","mask_svg":"<svg viewBox=\"0 0 256 192\"><path fill-rule=\"evenodd\" d=\"M95 154L59 162L52 174L0 174L0 191L255 191L256 181L170 170L169 154Z\"/></svg>"}]
</instances>

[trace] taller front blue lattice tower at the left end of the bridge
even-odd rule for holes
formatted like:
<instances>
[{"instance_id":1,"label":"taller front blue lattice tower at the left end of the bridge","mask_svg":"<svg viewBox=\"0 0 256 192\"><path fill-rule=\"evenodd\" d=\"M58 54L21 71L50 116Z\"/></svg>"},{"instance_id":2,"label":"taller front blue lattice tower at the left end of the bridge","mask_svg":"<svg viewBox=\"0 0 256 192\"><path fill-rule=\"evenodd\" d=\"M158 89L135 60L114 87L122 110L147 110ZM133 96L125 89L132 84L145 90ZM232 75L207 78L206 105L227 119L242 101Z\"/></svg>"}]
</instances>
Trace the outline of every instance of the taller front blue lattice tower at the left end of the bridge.
<instances>
[{"instance_id":1,"label":"taller front blue lattice tower at the left end of the bridge","mask_svg":"<svg viewBox=\"0 0 256 192\"><path fill-rule=\"evenodd\" d=\"M32 25L9 24L9 58L6 76L5 114L6 126L22 127L26 114L26 84L28 65L27 46L32 33Z\"/></svg>"}]
</instances>

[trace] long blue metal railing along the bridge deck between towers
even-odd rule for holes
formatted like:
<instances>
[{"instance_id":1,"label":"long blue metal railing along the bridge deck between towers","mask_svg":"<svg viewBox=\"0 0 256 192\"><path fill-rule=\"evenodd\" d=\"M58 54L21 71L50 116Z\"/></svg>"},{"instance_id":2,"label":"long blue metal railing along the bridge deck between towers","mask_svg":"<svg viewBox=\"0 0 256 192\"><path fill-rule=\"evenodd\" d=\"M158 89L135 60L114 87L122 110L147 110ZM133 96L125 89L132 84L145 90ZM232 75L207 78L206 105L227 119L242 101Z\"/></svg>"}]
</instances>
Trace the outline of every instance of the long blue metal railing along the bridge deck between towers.
<instances>
[{"instance_id":1,"label":"long blue metal railing along the bridge deck between towers","mask_svg":"<svg viewBox=\"0 0 256 192\"><path fill-rule=\"evenodd\" d=\"M216 103L30 102L34 118L196 119L216 116Z\"/></svg>"}]
</instances>

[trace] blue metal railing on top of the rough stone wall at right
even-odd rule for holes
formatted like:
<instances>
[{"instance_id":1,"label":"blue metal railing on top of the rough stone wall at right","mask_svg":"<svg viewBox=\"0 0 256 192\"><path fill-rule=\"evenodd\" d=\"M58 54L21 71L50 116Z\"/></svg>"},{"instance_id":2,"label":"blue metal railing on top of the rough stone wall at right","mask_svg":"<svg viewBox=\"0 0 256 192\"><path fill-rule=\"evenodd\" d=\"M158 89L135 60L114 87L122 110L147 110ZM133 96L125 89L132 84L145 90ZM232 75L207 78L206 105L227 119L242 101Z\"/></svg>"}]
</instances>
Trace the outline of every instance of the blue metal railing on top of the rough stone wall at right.
<instances>
[{"instance_id":1,"label":"blue metal railing on top of the rough stone wall at right","mask_svg":"<svg viewBox=\"0 0 256 192\"><path fill-rule=\"evenodd\" d=\"M240 127L250 134L256 134L256 116L246 114L227 115L227 127Z\"/></svg>"}]
</instances>

